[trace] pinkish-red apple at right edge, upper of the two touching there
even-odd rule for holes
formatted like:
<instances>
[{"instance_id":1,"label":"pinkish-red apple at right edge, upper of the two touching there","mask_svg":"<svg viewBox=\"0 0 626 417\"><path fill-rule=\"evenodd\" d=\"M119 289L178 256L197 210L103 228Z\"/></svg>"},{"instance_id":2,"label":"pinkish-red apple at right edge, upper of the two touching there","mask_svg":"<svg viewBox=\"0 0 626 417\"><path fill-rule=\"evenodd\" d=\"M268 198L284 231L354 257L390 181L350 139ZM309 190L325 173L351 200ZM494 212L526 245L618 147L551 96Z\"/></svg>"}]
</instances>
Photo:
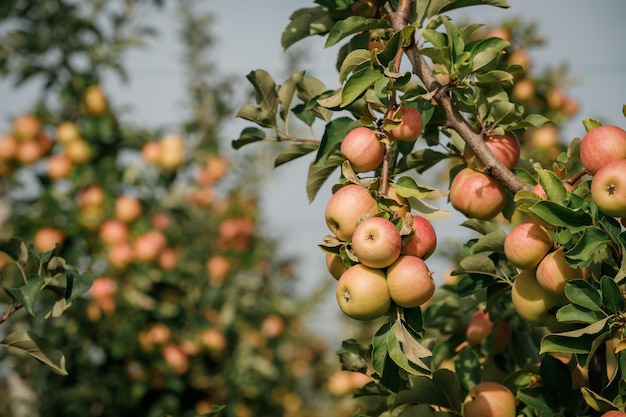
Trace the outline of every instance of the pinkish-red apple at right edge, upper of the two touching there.
<instances>
[{"instance_id":1,"label":"pinkish-red apple at right edge, upper of the two touching there","mask_svg":"<svg viewBox=\"0 0 626 417\"><path fill-rule=\"evenodd\" d=\"M626 159L626 130L618 126L594 127L580 142L580 162L590 175L617 159Z\"/></svg>"}]
</instances>

